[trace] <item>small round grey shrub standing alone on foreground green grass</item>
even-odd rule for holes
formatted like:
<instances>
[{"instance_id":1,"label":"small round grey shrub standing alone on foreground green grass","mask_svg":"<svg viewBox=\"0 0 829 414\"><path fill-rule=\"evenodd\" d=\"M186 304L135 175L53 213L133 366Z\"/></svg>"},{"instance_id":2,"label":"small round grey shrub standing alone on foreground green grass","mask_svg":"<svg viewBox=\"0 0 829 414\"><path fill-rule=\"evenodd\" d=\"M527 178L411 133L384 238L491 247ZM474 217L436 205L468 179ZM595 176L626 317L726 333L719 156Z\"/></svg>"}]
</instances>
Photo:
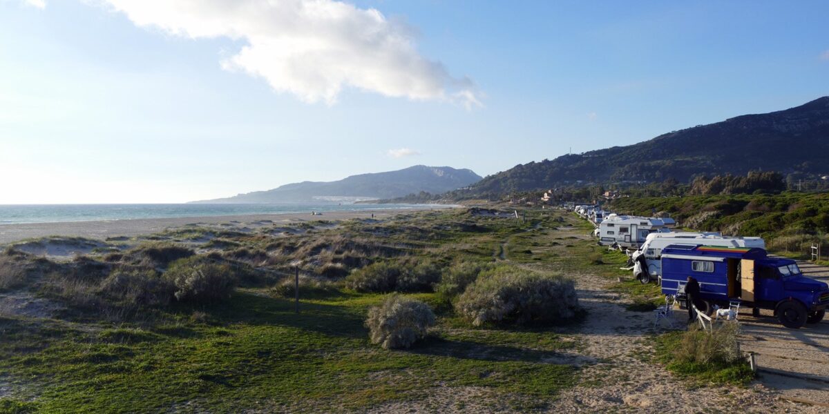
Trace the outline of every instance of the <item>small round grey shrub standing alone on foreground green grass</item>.
<instances>
[{"instance_id":1,"label":"small round grey shrub standing alone on foreground green grass","mask_svg":"<svg viewBox=\"0 0 829 414\"><path fill-rule=\"evenodd\" d=\"M390 295L380 306L368 310L366 327L372 344L385 349L409 348L426 336L434 325L434 313L425 303L411 298Z\"/></svg>"}]
</instances>

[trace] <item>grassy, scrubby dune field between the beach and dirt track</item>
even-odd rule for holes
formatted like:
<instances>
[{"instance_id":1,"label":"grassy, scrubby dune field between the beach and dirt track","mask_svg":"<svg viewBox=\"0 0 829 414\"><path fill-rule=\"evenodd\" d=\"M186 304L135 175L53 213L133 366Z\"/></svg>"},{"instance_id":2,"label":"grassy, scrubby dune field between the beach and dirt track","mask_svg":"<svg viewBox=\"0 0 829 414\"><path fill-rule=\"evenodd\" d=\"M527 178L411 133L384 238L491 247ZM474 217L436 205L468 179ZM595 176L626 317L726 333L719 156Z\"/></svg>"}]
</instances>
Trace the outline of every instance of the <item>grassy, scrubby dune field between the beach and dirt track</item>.
<instances>
[{"instance_id":1,"label":"grassy, scrubby dune field between the beach and dirt track","mask_svg":"<svg viewBox=\"0 0 829 414\"><path fill-rule=\"evenodd\" d=\"M457 209L290 228L193 226L104 245L58 240L95 246L62 261L12 247L0 270L23 268L24 282L0 285L0 294L25 293L56 311L0 313L0 412L364 411L468 388L487 390L483 404L492 411L549 408L562 390L598 380L561 362L584 346L584 315L474 327L456 315L453 296L429 288L405 295L429 304L437 325L411 349L385 350L370 343L364 325L384 295L351 290L345 276L372 262L508 263L602 277L628 310L650 312L662 301L658 287L629 280L622 253L572 235L591 229L557 210L527 210L517 220ZM136 305L102 293L116 269L137 277L201 261L235 273L239 286L229 299ZM303 277L299 314L295 267Z\"/></svg>"}]
</instances>

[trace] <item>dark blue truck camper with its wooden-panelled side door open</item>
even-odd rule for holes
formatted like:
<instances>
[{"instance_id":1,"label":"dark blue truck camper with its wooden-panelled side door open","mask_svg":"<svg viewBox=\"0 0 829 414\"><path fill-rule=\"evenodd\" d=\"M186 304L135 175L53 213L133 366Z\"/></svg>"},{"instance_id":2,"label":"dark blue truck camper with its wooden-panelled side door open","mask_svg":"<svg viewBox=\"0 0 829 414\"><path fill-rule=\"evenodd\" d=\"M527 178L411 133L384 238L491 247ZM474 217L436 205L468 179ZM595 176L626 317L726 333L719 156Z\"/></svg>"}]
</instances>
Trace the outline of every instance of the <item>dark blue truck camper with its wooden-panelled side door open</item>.
<instances>
[{"instance_id":1,"label":"dark blue truck camper with its wooden-panelled side door open","mask_svg":"<svg viewBox=\"0 0 829 414\"><path fill-rule=\"evenodd\" d=\"M762 248L671 244L662 250L662 293L676 295L688 277L700 282L705 313L714 305L774 310L780 323L800 328L817 323L829 306L829 286L804 277L797 263L769 258Z\"/></svg>"}]
</instances>

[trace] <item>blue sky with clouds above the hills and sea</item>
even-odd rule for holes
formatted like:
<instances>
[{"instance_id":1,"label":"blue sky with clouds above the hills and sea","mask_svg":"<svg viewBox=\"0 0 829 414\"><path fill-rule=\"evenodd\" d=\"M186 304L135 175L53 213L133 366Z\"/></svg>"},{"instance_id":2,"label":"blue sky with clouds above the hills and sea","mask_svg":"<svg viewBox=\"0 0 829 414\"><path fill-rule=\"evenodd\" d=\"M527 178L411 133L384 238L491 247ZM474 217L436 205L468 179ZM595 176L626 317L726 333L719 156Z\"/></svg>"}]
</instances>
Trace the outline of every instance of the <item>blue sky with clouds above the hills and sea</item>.
<instances>
[{"instance_id":1,"label":"blue sky with clouds above the hills and sea","mask_svg":"<svg viewBox=\"0 0 829 414\"><path fill-rule=\"evenodd\" d=\"M829 94L829 2L0 0L0 204L481 176Z\"/></svg>"}]
</instances>

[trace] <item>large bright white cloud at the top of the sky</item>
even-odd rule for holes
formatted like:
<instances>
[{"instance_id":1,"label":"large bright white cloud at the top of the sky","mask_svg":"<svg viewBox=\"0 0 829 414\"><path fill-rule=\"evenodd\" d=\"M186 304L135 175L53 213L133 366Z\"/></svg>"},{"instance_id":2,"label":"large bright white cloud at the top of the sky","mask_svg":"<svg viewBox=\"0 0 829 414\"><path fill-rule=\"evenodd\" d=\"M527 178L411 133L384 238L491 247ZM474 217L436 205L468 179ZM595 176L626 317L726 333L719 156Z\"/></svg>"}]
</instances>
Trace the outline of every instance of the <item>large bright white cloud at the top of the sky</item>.
<instances>
[{"instance_id":1,"label":"large bright white cloud at the top of the sky","mask_svg":"<svg viewBox=\"0 0 829 414\"><path fill-rule=\"evenodd\" d=\"M244 41L221 62L308 103L351 87L390 97L480 107L467 77L419 55L412 30L376 9L334 0L97 0L134 24L193 39Z\"/></svg>"}]
</instances>

